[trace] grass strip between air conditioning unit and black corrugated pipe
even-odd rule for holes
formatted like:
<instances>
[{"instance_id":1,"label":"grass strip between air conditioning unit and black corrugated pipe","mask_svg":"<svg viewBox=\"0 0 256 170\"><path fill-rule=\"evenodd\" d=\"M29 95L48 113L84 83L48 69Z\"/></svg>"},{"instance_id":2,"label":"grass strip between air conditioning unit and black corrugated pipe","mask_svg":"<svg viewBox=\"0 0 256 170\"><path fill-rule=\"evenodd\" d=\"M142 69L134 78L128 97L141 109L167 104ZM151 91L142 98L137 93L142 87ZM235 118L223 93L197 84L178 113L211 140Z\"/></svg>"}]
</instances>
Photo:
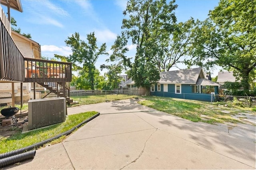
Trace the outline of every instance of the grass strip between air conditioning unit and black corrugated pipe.
<instances>
[{"instance_id":1,"label":"grass strip between air conditioning unit and black corrugated pipe","mask_svg":"<svg viewBox=\"0 0 256 170\"><path fill-rule=\"evenodd\" d=\"M34 143L44 141L56 135L59 135L60 133L63 133L72 129L73 127L82 123L89 117L92 117L96 113L97 113L96 111L89 111L85 113L69 115L66 118L65 122L51 125L46 128L37 129L37 130L30 131L28 133L23 133L23 134L21 133L22 129L18 129L18 127L13 127L12 131L15 131L15 133L10 137L3 137L0 135L0 146L1 146L0 153L5 153L12 150L20 149L20 148L32 145ZM64 139L66 139L66 136L62 136L50 142L50 144L60 143Z\"/></svg>"}]
</instances>

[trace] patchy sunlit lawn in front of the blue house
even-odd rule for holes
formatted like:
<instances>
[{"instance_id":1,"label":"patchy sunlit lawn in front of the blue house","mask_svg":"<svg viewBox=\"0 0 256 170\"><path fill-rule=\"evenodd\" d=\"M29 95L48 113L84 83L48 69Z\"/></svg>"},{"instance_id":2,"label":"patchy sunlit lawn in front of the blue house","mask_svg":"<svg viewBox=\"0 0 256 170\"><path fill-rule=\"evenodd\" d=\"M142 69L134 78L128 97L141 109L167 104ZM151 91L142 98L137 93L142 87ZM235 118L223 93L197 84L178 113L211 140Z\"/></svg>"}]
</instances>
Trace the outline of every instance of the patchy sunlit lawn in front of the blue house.
<instances>
[{"instance_id":1,"label":"patchy sunlit lawn in front of the blue house","mask_svg":"<svg viewBox=\"0 0 256 170\"><path fill-rule=\"evenodd\" d=\"M246 123L246 119L235 119L232 115L251 111L251 114L256 114L252 108L243 107L221 107L214 103L201 102L196 100L183 100L177 98L165 98L156 96L143 96L146 99L140 101L139 104L148 106L159 111L170 113L184 119L194 122L205 123ZM224 113L226 112L226 113ZM250 124L250 122L248 122Z\"/></svg>"}]
</instances>

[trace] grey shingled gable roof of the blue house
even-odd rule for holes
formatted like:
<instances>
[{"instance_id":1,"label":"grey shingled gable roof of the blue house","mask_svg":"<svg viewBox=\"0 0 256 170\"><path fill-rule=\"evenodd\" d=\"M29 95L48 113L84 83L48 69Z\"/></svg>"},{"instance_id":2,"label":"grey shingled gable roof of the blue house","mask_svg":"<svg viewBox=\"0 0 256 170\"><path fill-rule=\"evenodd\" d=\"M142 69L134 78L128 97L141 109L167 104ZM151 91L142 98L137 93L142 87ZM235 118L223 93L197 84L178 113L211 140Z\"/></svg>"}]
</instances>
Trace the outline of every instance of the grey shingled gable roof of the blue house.
<instances>
[{"instance_id":1,"label":"grey shingled gable roof of the blue house","mask_svg":"<svg viewBox=\"0 0 256 170\"><path fill-rule=\"evenodd\" d=\"M205 78L201 67L160 72L159 83L196 84L198 78Z\"/></svg>"}]
</instances>

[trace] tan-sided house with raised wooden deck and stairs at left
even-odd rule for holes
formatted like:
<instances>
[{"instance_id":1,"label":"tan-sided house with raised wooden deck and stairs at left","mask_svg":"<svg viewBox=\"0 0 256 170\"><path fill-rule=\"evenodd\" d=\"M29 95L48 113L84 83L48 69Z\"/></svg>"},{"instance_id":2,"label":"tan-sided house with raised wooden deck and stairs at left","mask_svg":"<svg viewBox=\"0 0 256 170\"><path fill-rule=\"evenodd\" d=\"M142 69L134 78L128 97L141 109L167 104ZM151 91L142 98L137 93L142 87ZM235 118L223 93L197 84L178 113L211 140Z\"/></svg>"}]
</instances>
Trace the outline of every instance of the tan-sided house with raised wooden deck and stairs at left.
<instances>
[{"instance_id":1,"label":"tan-sided house with raised wooden deck and stairs at left","mask_svg":"<svg viewBox=\"0 0 256 170\"><path fill-rule=\"evenodd\" d=\"M11 105L14 106L16 95L23 101L25 91L30 90L29 85L36 87L39 84L72 103L70 89L66 87L66 82L72 79L72 63L42 60L37 42L11 30L10 9L23 12L20 0L0 0L0 4L7 6L8 11L6 16L0 6L0 89L11 89L11 92L0 93L0 98L12 98ZM55 84L56 88L50 84Z\"/></svg>"}]
</instances>

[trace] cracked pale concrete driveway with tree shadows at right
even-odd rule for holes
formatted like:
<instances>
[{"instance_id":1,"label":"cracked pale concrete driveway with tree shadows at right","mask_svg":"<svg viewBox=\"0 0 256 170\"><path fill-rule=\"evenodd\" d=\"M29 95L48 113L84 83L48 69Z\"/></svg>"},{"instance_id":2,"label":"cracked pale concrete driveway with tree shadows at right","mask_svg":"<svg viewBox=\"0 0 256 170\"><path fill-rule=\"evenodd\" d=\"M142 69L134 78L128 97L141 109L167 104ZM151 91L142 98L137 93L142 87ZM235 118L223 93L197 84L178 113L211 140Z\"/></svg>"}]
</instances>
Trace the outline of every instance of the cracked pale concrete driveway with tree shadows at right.
<instances>
[{"instance_id":1,"label":"cracked pale concrete driveway with tree shadows at right","mask_svg":"<svg viewBox=\"0 0 256 170\"><path fill-rule=\"evenodd\" d=\"M100 115L4 169L255 169L255 126L195 123L128 99L68 108Z\"/></svg>"}]
</instances>

